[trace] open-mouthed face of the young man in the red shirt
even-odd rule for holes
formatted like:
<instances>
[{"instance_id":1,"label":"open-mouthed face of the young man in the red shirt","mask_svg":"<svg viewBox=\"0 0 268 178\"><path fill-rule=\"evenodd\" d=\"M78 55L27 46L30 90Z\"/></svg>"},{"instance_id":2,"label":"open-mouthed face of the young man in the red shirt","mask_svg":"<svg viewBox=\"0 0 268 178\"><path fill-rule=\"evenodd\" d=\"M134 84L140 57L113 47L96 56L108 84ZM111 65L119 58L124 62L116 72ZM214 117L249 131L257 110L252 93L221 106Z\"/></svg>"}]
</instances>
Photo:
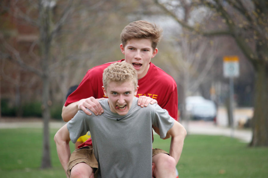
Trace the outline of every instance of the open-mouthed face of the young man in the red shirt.
<instances>
[{"instance_id":1,"label":"open-mouthed face of the young man in the red shirt","mask_svg":"<svg viewBox=\"0 0 268 178\"><path fill-rule=\"evenodd\" d=\"M132 64L137 71L138 79L144 77L150 67L151 58L155 57L158 49L152 48L150 39L133 38L127 41L125 47L120 45L121 52L125 55L125 61Z\"/></svg>"}]
</instances>

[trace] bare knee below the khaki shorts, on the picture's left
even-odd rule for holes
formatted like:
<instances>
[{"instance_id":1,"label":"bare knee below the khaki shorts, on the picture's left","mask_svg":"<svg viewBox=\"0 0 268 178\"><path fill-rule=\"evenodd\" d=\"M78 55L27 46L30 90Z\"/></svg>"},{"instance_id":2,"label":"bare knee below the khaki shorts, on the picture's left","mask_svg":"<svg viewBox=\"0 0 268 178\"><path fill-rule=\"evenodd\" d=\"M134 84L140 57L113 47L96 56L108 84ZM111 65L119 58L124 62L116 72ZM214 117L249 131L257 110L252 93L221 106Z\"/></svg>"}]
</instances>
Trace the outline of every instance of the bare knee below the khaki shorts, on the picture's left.
<instances>
[{"instance_id":1,"label":"bare knee below the khaki shorts, on the picture's left","mask_svg":"<svg viewBox=\"0 0 268 178\"><path fill-rule=\"evenodd\" d=\"M86 163L78 163L71 169L71 178L89 178L93 169Z\"/></svg>"}]
</instances>

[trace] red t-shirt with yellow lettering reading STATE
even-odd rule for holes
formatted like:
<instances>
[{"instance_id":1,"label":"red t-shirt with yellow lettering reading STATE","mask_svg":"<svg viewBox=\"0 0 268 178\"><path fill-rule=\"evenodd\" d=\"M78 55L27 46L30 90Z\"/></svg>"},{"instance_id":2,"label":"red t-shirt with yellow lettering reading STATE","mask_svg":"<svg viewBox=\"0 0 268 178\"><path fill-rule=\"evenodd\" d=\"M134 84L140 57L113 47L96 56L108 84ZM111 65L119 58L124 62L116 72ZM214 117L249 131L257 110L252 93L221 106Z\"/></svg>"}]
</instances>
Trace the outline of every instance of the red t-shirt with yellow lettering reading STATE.
<instances>
[{"instance_id":1,"label":"red t-shirt with yellow lettering reading STATE","mask_svg":"<svg viewBox=\"0 0 268 178\"><path fill-rule=\"evenodd\" d=\"M124 61L124 59L116 62ZM102 73L111 63L105 63L100 66L89 69L83 78L78 88L71 93L64 106L79 101L80 99L89 98L103 98L104 93L102 90ZM138 80L138 93L139 96L149 96L156 99L158 105L169 112L169 115L177 120L178 114L178 96L177 84L174 79L165 71L150 63L150 68L147 74ZM91 139L88 139L82 146L92 145Z\"/></svg>"}]
</instances>

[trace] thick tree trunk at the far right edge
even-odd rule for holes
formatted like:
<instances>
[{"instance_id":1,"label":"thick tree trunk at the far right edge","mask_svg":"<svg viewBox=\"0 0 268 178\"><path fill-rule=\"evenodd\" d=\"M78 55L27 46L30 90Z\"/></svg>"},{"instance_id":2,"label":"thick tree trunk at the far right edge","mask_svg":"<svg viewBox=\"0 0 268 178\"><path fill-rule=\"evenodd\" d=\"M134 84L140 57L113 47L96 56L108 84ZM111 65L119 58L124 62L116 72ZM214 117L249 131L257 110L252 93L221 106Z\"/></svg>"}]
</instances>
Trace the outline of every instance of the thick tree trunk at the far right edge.
<instances>
[{"instance_id":1,"label":"thick tree trunk at the far right edge","mask_svg":"<svg viewBox=\"0 0 268 178\"><path fill-rule=\"evenodd\" d=\"M268 146L268 64L258 62L255 83L253 137L250 146Z\"/></svg>"}]
</instances>

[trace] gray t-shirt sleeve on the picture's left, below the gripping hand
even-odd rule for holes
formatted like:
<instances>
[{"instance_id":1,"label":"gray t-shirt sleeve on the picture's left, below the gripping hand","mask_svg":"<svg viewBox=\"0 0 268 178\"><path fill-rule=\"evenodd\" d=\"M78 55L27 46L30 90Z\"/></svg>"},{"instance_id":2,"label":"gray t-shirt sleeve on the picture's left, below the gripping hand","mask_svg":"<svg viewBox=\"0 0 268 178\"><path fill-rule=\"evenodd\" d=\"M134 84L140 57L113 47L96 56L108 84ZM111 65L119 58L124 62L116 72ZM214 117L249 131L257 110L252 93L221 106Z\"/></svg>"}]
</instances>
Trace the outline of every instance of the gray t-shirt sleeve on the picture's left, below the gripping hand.
<instances>
[{"instance_id":1,"label":"gray t-shirt sleeve on the picture's left, below the gripping hand","mask_svg":"<svg viewBox=\"0 0 268 178\"><path fill-rule=\"evenodd\" d=\"M67 123L67 128L70 133L70 139L73 143L80 136L85 135L89 131L88 115L84 111L79 110L77 114Z\"/></svg>"}]
</instances>

